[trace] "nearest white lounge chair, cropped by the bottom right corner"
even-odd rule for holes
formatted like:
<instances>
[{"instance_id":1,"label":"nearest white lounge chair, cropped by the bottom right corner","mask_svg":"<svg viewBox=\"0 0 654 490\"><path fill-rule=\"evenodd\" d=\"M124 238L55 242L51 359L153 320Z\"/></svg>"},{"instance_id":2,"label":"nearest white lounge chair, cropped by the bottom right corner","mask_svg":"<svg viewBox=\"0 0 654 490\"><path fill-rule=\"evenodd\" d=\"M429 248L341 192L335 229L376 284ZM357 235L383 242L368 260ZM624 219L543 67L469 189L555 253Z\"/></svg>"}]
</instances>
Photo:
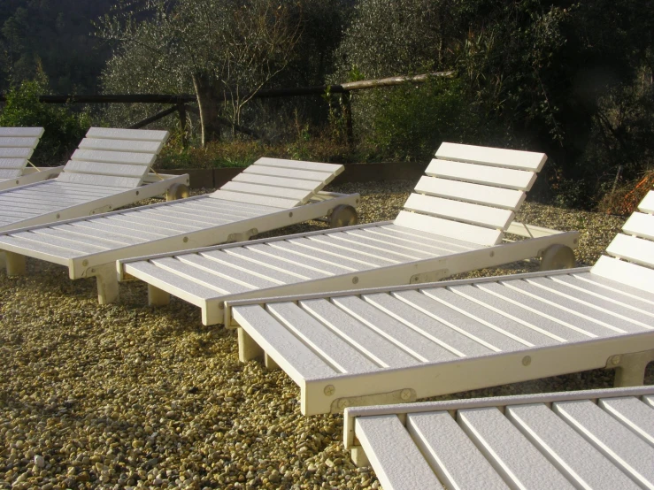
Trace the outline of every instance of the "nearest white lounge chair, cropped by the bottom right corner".
<instances>
[{"instance_id":1,"label":"nearest white lounge chair, cropped by the bottom right corner","mask_svg":"<svg viewBox=\"0 0 654 490\"><path fill-rule=\"evenodd\" d=\"M654 488L654 387L345 410L384 490Z\"/></svg>"}]
</instances>

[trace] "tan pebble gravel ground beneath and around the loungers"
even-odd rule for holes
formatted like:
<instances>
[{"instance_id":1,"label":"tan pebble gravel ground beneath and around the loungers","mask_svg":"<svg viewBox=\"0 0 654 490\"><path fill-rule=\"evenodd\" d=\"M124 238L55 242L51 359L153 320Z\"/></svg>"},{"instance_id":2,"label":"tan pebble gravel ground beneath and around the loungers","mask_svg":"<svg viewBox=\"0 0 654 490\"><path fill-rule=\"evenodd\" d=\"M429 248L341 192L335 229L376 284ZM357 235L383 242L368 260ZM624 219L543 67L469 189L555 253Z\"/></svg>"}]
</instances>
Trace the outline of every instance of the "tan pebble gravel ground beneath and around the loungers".
<instances>
[{"instance_id":1,"label":"tan pebble gravel ground beneath and around the loungers","mask_svg":"<svg viewBox=\"0 0 654 490\"><path fill-rule=\"evenodd\" d=\"M360 221L394 218L413 182L344 185ZM527 203L520 220L581 231L593 264L623 218ZM276 234L326 226L311 222ZM200 323L173 299L144 307L142 283L100 306L93 279L28 260L0 272L0 488L378 488L342 447L342 417L303 417L282 371L239 364L234 333ZM468 275L535 269L534 263ZM654 366L646 383L654 384ZM610 387L586 371L438 399Z\"/></svg>"}]
</instances>

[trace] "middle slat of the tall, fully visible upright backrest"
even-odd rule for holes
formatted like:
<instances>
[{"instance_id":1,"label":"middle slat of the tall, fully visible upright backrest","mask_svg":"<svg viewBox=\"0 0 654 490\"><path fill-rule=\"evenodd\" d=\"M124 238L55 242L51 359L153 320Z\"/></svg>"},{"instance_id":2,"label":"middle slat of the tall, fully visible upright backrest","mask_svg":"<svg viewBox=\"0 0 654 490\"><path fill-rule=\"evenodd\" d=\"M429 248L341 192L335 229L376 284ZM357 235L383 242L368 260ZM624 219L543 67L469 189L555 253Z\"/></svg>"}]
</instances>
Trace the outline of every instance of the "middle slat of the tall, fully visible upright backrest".
<instances>
[{"instance_id":1,"label":"middle slat of the tall, fully visible upright backrest","mask_svg":"<svg viewBox=\"0 0 654 490\"><path fill-rule=\"evenodd\" d=\"M520 190L491 188L459 180L438 179L436 177L420 177L414 188L415 192L435 195L447 199L456 199L468 203L485 204L507 210L517 210L525 200L526 194Z\"/></svg>"}]
</instances>

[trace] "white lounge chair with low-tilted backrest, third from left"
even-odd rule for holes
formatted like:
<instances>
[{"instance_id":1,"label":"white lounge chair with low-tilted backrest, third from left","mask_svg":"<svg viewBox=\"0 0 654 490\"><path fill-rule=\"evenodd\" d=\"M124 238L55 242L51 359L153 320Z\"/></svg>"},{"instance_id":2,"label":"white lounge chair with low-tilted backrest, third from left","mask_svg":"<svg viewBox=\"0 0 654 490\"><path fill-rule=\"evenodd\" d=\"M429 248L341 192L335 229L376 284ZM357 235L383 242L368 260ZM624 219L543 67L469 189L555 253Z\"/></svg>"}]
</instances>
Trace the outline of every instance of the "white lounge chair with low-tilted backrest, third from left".
<instances>
[{"instance_id":1,"label":"white lounge chair with low-tilted backrest, third from left","mask_svg":"<svg viewBox=\"0 0 654 490\"><path fill-rule=\"evenodd\" d=\"M247 240L326 216L333 226L356 223L359 195L320 191L342 171L342 165L260 158L210 195L0 233L0 250L9 275L24 273L25 256L32 256L67 266L71 279L96 277L98 300L114 302L119 258Z\"/></svg>"}]
</instances>

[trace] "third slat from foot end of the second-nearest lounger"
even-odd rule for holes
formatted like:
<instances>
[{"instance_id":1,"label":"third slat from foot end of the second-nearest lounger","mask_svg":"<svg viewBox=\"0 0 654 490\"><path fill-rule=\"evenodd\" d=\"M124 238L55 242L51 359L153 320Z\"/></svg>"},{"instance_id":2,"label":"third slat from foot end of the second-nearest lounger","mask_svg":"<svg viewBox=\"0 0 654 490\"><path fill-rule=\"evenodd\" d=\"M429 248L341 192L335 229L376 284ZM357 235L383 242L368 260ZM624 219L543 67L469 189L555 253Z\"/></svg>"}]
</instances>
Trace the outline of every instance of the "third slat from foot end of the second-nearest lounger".
<instances>
[{"instance_id":1,"label":"third slat from foot end of the second-nearest lounger","mask_svg":"<svg viewBox=\"0 0 654 490\"><path fill-rule=\"evenodd\" d=\"M381 366L404 367L419 364L416 357L397 346L395 342L350 317L332 302L307 300L298 302L298 305Z\"/></svg>"}]
</instances>

